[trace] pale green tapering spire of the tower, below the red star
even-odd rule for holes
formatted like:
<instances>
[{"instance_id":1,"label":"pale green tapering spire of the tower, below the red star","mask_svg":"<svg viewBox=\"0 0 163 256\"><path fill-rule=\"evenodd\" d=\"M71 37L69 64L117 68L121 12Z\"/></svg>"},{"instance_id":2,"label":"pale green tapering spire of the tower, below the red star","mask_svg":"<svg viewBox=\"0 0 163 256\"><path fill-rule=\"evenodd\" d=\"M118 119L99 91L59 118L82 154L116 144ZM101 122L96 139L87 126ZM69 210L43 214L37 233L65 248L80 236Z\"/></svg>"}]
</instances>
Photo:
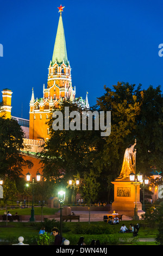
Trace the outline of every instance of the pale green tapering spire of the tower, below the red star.
<instances>
[{"instance_id":1,"label":"pale green tapering spire of the tower, below the red star","mask_svg":"<svg viewBox=\"0 0 163 256\"><path fill-rule=\"evenodd\" d=\"M57 60L58 63L64 60L65 64L68 64L65 33L61 15L59 17L57 35L55 38L52 65L55 63L55 60Z\"/></svg>"}]
</instances>

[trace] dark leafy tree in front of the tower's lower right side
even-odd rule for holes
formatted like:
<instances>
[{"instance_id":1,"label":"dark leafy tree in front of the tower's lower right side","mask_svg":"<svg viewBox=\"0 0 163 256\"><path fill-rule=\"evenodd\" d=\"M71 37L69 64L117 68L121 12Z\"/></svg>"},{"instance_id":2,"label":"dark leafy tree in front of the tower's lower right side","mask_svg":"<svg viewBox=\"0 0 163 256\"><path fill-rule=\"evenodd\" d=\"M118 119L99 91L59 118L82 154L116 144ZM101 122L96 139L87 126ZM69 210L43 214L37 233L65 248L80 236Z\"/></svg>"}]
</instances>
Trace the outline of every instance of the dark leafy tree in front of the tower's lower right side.
<instances>
[{"instance_id":1,"label":"dark leafy tree in front of the tower's lower right side","mask_svg":"<svg viewBox=\"0 0 163 256\"><path fill-rule=\"evenodd\" d=\"M77 103L64 101L59 111L63 114L63 127L65 127L65 107L69 111L78 111L80 114L80 125L82 126L82 111L85 108ZM70 118L70 121L73 119ZM43 146L40 153L43 163L43 174L54 177L58 181L70 179L70 176L77 174L83 175L85 170L89 170L98 160L104 141L101 139L100 131L88 130L57 130L54 131L52 123L54 118L48 122L51 138ZM98 169L95 170L98 173Z\"/></svg>"}]
</instances>

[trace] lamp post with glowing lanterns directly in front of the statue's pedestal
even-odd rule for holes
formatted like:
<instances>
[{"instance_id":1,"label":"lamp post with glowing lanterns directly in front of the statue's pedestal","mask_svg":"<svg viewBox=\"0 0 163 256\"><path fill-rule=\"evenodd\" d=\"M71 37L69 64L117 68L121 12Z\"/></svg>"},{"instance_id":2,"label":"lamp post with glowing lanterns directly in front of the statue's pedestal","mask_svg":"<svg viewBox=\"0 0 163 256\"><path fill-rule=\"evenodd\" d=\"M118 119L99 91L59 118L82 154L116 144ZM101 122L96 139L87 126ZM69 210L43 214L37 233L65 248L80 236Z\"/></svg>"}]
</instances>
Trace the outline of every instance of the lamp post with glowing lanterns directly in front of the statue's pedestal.
<instances>
[{"instance_id":1,"label":"lamp post with glowing lanterns directly in front of the statue's pedestal","mask_svg":"<svg viewBox=\"0 0 163 256\"><path fill-rule=\"evenodd\" d=\"M137 215L137 186L140 186L140 184L142 183L142 174L138 173L136 175L137 178L135 178L135 173L130 173L129 176L130 181L132 181L131 184L135 186L135 208L133 220L139 220L139 216Z\"/></svg>"}]
</instances>

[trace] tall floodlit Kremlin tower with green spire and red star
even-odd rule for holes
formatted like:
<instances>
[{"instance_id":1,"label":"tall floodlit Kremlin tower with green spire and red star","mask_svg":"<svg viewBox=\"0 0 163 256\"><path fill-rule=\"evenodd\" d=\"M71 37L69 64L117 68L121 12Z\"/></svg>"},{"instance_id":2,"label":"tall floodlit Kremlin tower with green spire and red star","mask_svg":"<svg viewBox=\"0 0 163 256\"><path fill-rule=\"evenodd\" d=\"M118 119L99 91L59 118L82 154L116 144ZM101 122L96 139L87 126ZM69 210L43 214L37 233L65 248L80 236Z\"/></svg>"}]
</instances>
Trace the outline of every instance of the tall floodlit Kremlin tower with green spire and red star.
<instances>
[{"instance_id":1,"label":"tall floodlit Kremlin tower with green spire and red star","mask_svg":"<svg viewBox=\"0 0 163 256\"><path fill-rule=\"evenodd\" d=\"M76 100L76 87L72 87L71 67L67 58L66 41L61 12L64 7L60 6L59 23L55 38L52 60L48 68L47 88L43 84L43 95L35 100L34 90L30 100L29 112L29 139L46 142L49 139L48 125L50 113L64 100L74 102ZM82 100L82 97L79 98ZM89 107L87 95L82 104Z\"/></svg>"}]
</instances>

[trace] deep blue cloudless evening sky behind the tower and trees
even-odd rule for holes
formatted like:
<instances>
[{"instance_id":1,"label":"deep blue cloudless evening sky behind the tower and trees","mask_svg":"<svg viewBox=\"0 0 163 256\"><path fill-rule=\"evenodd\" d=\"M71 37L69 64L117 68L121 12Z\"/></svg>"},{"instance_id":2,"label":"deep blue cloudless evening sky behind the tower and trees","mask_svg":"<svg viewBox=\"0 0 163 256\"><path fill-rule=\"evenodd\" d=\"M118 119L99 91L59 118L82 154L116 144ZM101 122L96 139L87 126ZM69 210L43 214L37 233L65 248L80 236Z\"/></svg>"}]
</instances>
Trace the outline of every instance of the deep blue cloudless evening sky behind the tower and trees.
<instances>
[{"instance_id":1,"label":"deep blue cloudless evening sky behind the tower and trees","mask_svg":"<svg viewBox=\"0 0 163 256\"><path fill-rule=\"evenodd\" d=\"M29 119L29 101L47 88L60 4L76 96L89 103L118 81L163 91L161 0L0 0L0 89L12 90L11 114ZM0 101L2 96L0 97ZM23 107L22 107L23 106ZM23 110L22 110L23 109ZM23 114L23 115L22 115Z\"/></svg>"}]
</instances>

